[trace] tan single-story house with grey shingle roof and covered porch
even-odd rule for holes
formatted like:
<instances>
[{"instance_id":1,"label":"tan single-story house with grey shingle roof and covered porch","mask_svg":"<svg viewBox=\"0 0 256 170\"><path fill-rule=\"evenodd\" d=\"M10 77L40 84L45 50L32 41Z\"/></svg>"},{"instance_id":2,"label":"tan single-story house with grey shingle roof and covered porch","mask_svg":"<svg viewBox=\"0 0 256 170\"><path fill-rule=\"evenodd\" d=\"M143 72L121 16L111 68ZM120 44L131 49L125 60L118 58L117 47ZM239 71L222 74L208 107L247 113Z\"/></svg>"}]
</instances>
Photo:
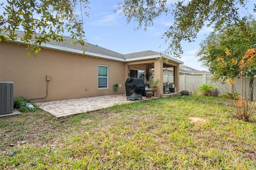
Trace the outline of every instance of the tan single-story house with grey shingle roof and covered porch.
<instances>
[{"instance_id":1,"label":"tan single-story house with grey shingle roof and covered porch","mask_svg":"<svg viewBox=\"0 0 256 170\"><path fill-rule=\"evenodd\" d=\"M0 82L14 82L14 97L42 102L124 94L127 78L146 75L152 68L162 87L165 67L174 67L174 80L179 87L179 65L183 62L159 52L124 55L87 43L83 53L82 46L72 46L72 38L65 36L64 42L42 44L34 57L27 55L28 44L21 41L23 32L16 34L17 40L0 42ZM113 89L115 84L117 91ZM160 97L161 93L163 88L158 88L155 94Z\"/></svg>"}]
</instances>

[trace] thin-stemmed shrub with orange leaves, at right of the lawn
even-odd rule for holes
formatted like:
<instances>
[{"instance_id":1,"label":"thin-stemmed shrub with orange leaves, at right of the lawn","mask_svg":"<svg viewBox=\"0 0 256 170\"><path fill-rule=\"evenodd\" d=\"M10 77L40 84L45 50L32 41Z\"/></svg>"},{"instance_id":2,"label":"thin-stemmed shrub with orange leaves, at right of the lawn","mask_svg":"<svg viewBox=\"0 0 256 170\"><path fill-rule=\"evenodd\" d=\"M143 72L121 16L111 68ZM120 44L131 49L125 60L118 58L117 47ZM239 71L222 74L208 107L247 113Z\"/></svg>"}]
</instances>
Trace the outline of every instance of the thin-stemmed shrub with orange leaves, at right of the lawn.
<instances>
[{"instance_id":1,"label":"thin-stemmed shrub with orange leaves, at right of the lawn","mask_svg":"<svg viewBox=\"0 0 256 170\"><path fill-rule=\"evenodd\" d=\"M227 62L237 63L239 69L239 73L237 76L240 78L242 84L241 97L236 98L236 81L234 81L233 78L227 78L225 81L228 84L228 86L232 89L231 91L233 98L230 99L231 114L234 115L234 117L236 117L237 119L248 121L256 112L255 100L249 100L251 99L251 97L253 97L252 95L255 79L253 80L252 87L249 88L248 95L246 89L246 74L250 72L251 69L254 69L255 65L255 48L248 49L240 61L237 61L234 57L232 57L232 51L226 49L224 52L226 53L226 56L221 56L217 59L217 61L220 63L220 68L227 67Z\"/></svg>"}]
</instances>

